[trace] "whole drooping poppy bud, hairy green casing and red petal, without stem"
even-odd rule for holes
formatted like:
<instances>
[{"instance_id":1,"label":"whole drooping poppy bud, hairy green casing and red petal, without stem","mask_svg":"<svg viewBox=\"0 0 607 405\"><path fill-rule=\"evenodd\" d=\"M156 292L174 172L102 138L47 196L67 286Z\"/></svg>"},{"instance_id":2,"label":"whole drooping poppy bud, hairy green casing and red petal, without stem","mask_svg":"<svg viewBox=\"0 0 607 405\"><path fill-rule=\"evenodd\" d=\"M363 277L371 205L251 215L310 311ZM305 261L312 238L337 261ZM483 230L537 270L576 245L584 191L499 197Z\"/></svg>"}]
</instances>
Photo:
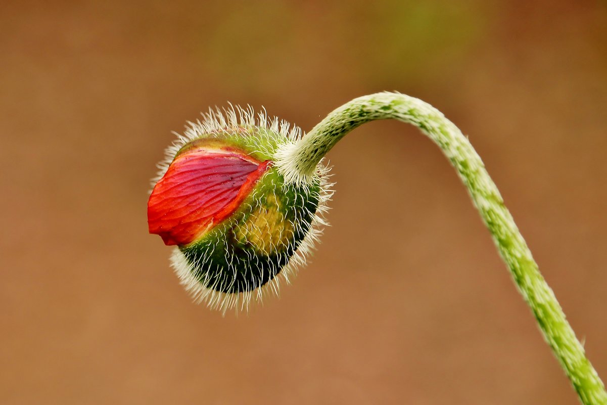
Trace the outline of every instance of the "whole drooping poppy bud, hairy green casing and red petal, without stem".
<instances>
[{"instance_id":1,"label":"whole drooping poppy bud, hairy green casing and red petal, without stem","mask_svg":"<svg viewBox=\"0 0 607 405\"><path fill-rule=\"evenodd\" d=\"M203 116L166 151L149 232L177 247L172 267L195 301L242 309L268 287L277 293L305 261L325 224L328 170L320 164L311 181L287 184L274 156L299 128L265 114L256 121L251 109Z\"/></svg>"}]
</instances>

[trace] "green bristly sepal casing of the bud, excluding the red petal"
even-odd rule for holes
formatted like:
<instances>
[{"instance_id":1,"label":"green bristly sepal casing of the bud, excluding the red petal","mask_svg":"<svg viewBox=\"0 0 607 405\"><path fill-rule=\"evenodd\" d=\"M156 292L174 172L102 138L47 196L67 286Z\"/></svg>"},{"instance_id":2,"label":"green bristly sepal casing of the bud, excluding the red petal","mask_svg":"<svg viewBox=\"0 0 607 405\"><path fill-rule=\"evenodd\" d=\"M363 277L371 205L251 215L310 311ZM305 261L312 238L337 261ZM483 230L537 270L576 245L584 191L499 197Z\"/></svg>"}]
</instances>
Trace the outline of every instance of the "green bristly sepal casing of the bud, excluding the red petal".
<instances>
[{"instance_id":1,"label":"green bristly sepal casing of the bud, excluding the red petal","mask_svg":"<svg viewBox=\"0 0 607 405\"><path fill-rule=\"evenodd\" d=\"M156 181L167 172L175 155L197 142L229 140L259 162L274 161L282 145L301 136L297 127L265 114L229 109L209 111L203 121L189 123L184 135L170 146L159 165ZM305 264L327 223L324 214L333 192L324 164L305 184L285 182L273 166L257 180L251 194L222 223L201 238L175 248L171 264L181 284L196 302L225 313L248 309L281 282L289 282ZM276 226L276 225L279 226Z\"/></svg>"}]
</instances>

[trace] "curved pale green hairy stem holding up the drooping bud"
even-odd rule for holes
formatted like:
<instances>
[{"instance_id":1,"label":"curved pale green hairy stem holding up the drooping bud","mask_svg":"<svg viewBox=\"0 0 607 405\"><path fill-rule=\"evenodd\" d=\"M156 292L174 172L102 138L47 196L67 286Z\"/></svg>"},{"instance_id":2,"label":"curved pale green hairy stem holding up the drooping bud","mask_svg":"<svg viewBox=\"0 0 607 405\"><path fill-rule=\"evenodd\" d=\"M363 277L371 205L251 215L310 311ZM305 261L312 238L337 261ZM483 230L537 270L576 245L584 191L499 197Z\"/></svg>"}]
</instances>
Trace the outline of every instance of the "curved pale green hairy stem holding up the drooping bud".
<instances>
[{"instance_id":1,"label":"curved pale green hairy stem holding up the drooping bud","mask_svg":"<svg viewBox=\"0 0 607 405\"><path fill-rule=\"evenodd\" d=\"M287 182L300 185L311 182L320 159L344 135L368 121L387 118L417 126L449 158L582 403L607 404L603 382L541 276L481 158L461 131L437 109L402 94L384 92L356 98L331 112L301 140L280 148L276 166Z\"/></svg>"}]
</instances>

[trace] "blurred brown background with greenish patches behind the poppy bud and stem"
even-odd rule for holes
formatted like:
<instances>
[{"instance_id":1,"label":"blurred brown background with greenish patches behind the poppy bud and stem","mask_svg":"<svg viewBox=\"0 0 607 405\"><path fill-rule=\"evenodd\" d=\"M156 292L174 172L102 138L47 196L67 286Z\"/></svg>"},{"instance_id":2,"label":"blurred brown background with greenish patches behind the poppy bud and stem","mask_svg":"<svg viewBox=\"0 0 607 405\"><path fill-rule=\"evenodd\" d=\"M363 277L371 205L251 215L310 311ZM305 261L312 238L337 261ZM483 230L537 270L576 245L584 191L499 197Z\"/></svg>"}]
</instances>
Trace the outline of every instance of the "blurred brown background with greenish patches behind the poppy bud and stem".
<instances>
[{"instance_id":1,"label":"blurred brown background with greenish patches behind the poppy bud and stem","mask_svg":"<svg viewBox=\"0 0 607 405\"><path fill-rule=\"evenodd\" d=\"M607 4L2 2L0 403L577 404L436 146L371 123L330 153L332 227L280 299L191 303L149 178L208 106L309 130L429 101L483 157L607 378Z\"/></svg>"}]
</instances>

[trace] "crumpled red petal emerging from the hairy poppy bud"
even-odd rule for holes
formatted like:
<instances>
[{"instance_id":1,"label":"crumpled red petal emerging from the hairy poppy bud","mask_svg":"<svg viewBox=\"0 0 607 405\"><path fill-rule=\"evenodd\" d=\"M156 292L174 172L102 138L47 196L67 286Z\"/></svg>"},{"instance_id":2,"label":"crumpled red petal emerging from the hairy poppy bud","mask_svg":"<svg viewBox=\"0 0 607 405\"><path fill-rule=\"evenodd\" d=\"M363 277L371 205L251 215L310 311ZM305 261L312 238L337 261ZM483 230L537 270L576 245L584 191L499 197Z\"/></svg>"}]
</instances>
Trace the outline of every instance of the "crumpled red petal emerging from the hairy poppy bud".
<instances>
[{"instance_id":1,"label":"crumpled red petal emerging from the hairy poppy bud","mask_svg":"<svg viewBox=\"0 0 607 405\"><path fill-rule=\"evenodd\" d=\"M187 245L230 216L270 166L232 148L180 154L148 200L149 232Z\"/></svg>"}]
</instances>

